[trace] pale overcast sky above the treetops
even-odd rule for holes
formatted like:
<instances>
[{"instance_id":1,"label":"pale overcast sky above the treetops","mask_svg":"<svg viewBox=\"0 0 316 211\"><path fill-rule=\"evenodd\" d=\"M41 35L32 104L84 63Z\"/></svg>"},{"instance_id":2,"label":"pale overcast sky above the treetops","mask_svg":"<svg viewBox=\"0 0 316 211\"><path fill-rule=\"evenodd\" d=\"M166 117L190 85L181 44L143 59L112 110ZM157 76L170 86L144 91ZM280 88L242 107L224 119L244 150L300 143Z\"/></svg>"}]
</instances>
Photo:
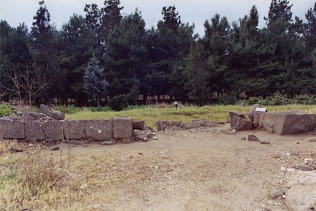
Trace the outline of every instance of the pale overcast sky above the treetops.
<instances>
[{"instance_id":1,"label":"pale overcast sky above the treetops","mask_svg":"<svg viewBox=\"0 0 316 211\"><path fill-rule=\"evenodd\" d=\"M0 0L0 19L6 20L10 26L16 27L25 22L30 28L33 16L39 8L39 0ZM181 21L195 23L195 32L202 37L204 35L203 23L211 19L216 13L226 16L231 23L248 14L251 6L256 5L259 11L259 28L265 26L264 16L268 16L271 0L120 0L124 6L122 12L130 14L138 7L145 19L146 27L156 26L162 19L163 6L175 5ZM68 22L73 13L85 15L83 8L86 3L96 3L103 7L104 0L45 0L50 12L51 23L55 23L57 29ZM306 22L305 13L311 7L314 8L315 0L290 0L293 3L293 19L299 16Z\"/></svg>"}]
</instances>

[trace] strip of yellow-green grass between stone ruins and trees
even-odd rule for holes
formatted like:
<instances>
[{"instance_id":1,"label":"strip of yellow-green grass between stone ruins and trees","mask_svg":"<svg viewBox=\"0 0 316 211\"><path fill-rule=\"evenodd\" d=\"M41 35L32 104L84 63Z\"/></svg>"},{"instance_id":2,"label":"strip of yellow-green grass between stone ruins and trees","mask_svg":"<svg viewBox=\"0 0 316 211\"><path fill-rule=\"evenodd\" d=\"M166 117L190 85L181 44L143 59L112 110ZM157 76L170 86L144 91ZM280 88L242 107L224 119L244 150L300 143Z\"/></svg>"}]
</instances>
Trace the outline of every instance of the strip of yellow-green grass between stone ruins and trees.
<instances>
[{"instance_id":1,"label":"strip of yellow-green grass between stone ruins and trees","mask_svg":"<svg viewBox=\"0 0 316 211\"><path fill-rule=\"evenodd\" d=\"M154 127L158 120L191 122L196 119L206 119L214 122L225 122L229 118L228 112L238 110L247 114L250 106L180 106L176 111L175 108L152 108L145 107L142 109L133 109L128 111L108 111L108 112L91 112L80 111L75 114L66 115L68 120L91 120L91 119L110 119L111 117L132 117L133 121L145 120L145 125ZM286 109L297 109L309 113L316 113L316 106L310 105L282 105L267 106L268 112L284 111Z\"/></svg>"}]
</instances>

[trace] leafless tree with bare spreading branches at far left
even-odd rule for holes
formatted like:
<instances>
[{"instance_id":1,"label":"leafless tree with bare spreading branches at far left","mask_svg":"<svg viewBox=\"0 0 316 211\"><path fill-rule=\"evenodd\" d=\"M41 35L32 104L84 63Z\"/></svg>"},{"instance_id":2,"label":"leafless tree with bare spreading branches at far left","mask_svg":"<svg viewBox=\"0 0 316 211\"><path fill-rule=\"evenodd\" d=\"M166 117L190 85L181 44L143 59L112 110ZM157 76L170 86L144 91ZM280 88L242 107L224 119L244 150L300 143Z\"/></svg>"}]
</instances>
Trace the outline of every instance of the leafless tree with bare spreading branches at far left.
<instances>
[{"instance_id":1,"label":"leafless tree with bare spreading branches at far left","mask_svg":"<svg viewBox=\"0 0 316 211\"><path fill-rule=\"evenodd\" d=\"M31 106L32 97L47 87L47 82L41 72L33 71L31 65L26 64L22 70L14 66L13 71L5 72L1 69L4 80L0 85L1 96L17 96L21 104L28 101Z\"/></svg>"}]
</instances>

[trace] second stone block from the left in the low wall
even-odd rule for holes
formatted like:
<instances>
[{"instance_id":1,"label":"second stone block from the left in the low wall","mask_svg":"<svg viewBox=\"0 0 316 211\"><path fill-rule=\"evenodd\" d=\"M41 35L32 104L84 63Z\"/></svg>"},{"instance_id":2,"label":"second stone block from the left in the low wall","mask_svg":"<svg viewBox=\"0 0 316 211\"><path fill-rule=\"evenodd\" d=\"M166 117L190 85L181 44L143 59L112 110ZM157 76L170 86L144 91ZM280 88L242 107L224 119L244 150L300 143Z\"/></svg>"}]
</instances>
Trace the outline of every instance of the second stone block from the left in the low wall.
<instances>
[{"instance_id":1,"label":"second stone block from the left in the low wall","mask_svg":"<svg viewBox=\"0 0 316 211\"><path fill-rule=\"evenodd\" d=\"M42 127L43 123L39 121L27 121L25 123L25 140L26 141L43 141L45 134Z\"/></svg>"}]
</instances>

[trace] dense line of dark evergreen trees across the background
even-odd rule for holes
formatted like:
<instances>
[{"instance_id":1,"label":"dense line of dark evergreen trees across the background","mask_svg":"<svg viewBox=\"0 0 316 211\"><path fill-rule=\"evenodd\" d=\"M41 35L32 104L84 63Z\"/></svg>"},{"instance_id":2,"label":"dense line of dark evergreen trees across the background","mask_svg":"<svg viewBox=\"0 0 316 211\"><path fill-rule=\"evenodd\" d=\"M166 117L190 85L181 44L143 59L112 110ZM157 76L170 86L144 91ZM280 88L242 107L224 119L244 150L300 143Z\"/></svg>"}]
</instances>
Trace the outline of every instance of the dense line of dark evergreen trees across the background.
<instances>
[{"instance_id":1,"label":"dense line of dark evergreen trees across the background","mask_svg":"<svg viewBox=\"0 0 316 211\"><path fill-rule=\"evenodd\" d=\"M201 36L194 24L182 23L174 5L162 8L157 27L146 29L138 9L121 15L119 0L105 0L101 8L86 4L85 17L74 14L56 30L42 0L30 31L24 23L0 21L1 100L79 106L118 95L133 104L143 96L146 103L156 95L202 105L278 90L314 95L316 2L311 6L303 23L293 20L288 0L272 0L262 29L255 5L232 23L215 14ZM27 80L13 77L26 73ZM23 86L29 80L32 95Z\"/></svg>"}]
</instances>

